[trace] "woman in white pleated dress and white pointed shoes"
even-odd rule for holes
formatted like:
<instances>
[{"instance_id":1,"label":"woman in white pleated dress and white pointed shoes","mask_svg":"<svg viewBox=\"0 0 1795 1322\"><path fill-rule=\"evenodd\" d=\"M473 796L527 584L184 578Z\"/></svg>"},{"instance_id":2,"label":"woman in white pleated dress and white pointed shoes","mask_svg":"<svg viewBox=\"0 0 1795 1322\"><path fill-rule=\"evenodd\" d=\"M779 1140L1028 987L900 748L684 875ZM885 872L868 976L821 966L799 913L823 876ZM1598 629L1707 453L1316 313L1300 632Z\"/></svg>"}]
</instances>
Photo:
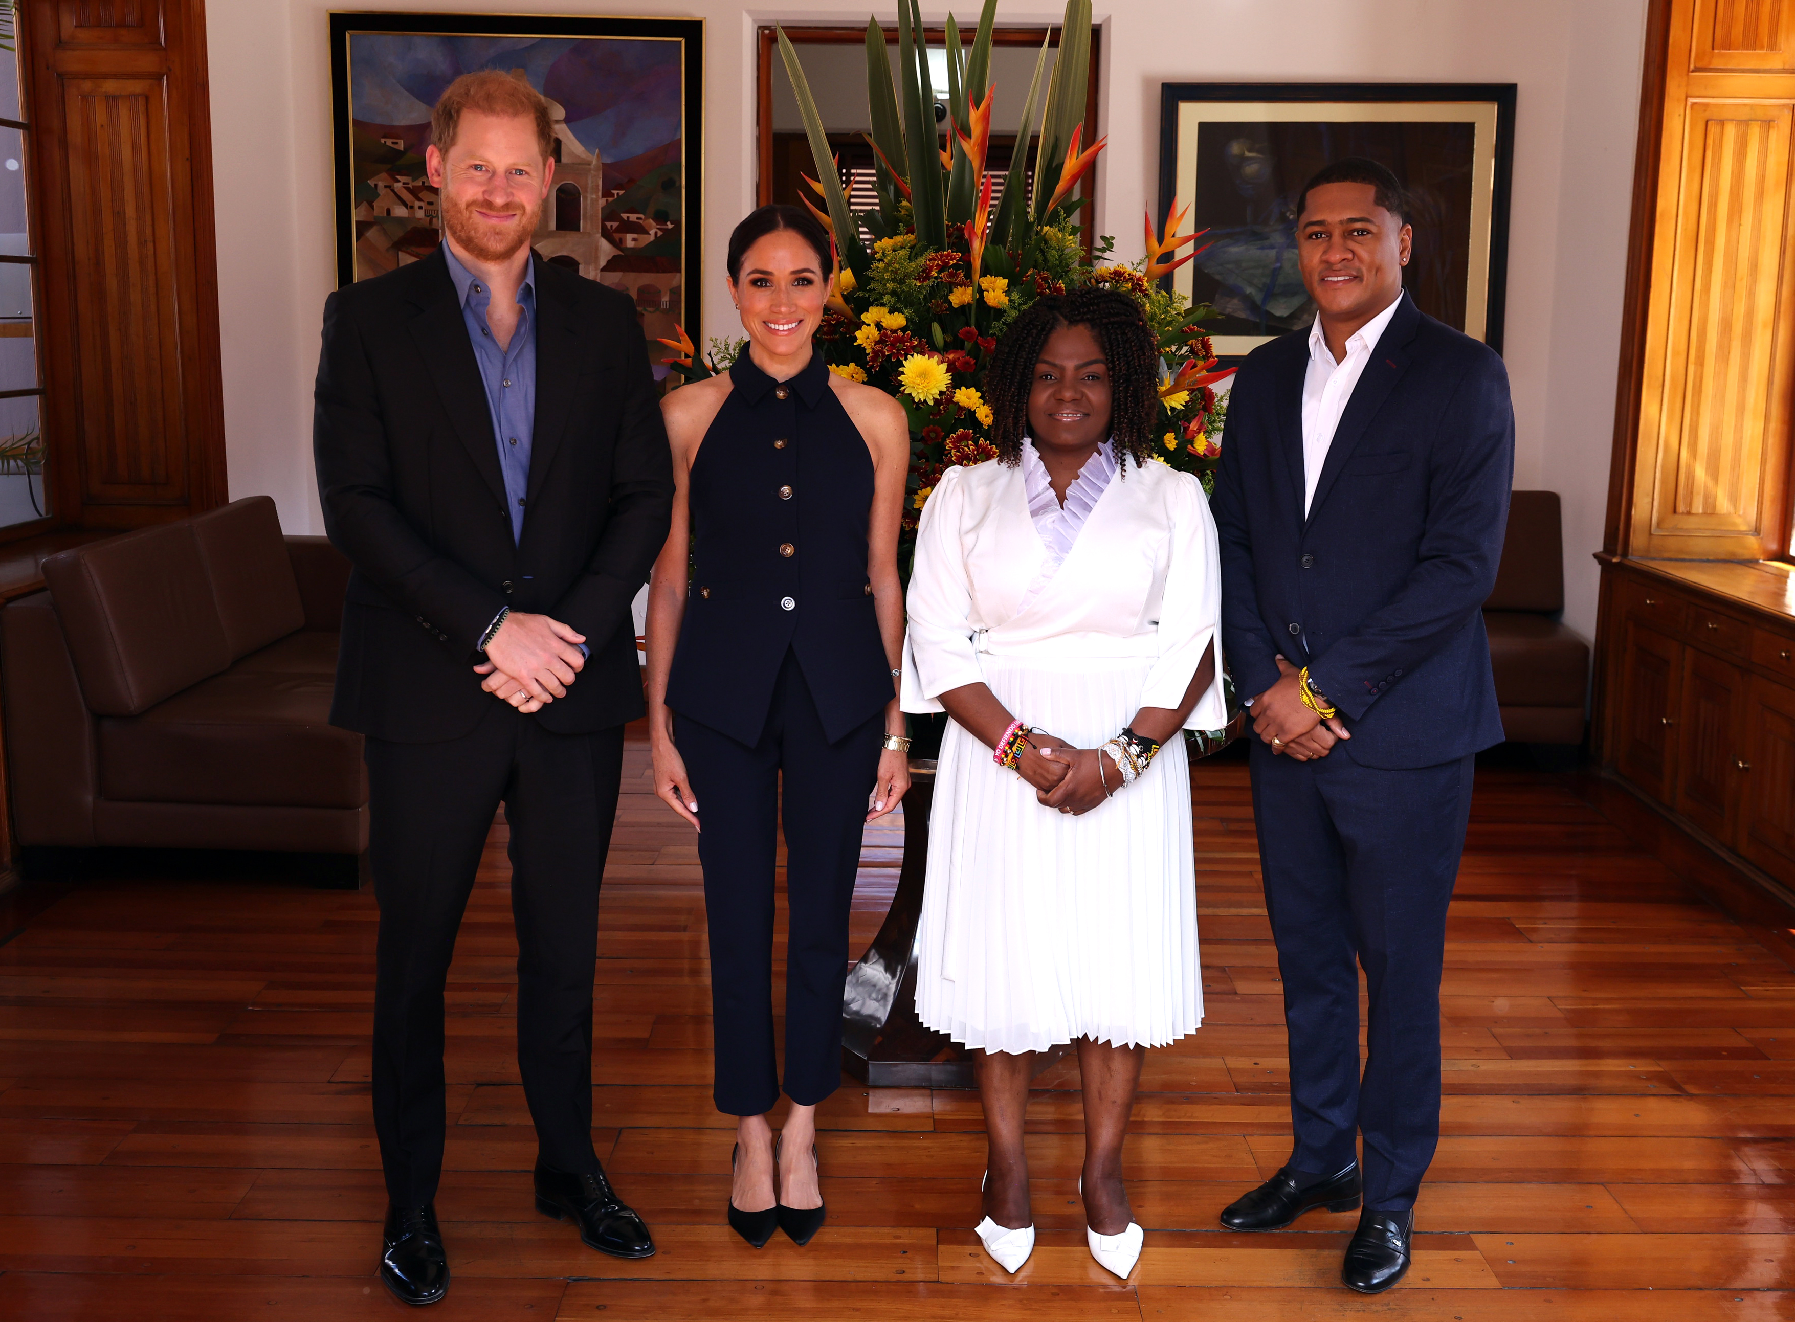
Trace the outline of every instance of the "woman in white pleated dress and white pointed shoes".
<instances>
[{"instance_id":1,"label":"woman in white pleated dress and white pointed shoes","mask_svg":"<svg viewBox=\"0 0 1795 1322\"><path fill-rule=\"evenodd\" d=\"M951 718L917 1013L975 1051L978 1234L1009 1272L1034 1247L1032 1053L1077 1042L1091 1254L1125 1277L1142 1229L1122 1141L1143 1053L1203 1019L1179 730L1226 723L1215 524L1195 477L1149 461L1158 348L1125 294L1032 305L987 398L998 457L942 475L910 579L903 707Z\"/></svg>"}]
</instances>

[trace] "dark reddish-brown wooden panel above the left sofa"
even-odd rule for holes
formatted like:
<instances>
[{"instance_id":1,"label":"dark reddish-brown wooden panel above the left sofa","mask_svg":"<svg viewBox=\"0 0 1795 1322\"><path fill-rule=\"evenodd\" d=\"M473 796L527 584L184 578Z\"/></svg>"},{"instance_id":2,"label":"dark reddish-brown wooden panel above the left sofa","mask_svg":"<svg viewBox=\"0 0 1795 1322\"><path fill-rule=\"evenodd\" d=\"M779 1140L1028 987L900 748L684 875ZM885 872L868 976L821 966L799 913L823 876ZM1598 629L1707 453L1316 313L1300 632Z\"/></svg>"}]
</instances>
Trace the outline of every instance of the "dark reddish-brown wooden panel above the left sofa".
<instances>
[{"instance_id":1,"label":"dark reddish-brown wooden panel above the left sofa","mask_svg":"<svg viewBox=\"0 0 1795 1322\"><path fill-rule=\"evenodd\" d=\"M203 0L23 0L56 509L223 504Z\"/></svg>"}]
</instances>

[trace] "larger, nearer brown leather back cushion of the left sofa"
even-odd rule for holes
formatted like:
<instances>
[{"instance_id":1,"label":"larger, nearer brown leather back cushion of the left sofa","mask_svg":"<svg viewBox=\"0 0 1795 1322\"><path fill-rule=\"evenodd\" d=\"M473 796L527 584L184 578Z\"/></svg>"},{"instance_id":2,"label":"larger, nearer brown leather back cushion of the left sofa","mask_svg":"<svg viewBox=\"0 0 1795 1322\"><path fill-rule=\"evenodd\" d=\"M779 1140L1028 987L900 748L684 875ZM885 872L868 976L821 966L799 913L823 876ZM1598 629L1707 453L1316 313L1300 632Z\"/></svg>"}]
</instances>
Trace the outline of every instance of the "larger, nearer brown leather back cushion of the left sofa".
<instances>
[{"instance_id":1,"label":"larger, nearer brown leather back cushion of the left sofa","mask_svg":"<svg viewBox=\"0 0 1795 1322\"><path fill-rule=\"evenodd\" d=\"M192 522L43 561L88 707L136 716L232 664Z\"/></svg>"}]
</instances>

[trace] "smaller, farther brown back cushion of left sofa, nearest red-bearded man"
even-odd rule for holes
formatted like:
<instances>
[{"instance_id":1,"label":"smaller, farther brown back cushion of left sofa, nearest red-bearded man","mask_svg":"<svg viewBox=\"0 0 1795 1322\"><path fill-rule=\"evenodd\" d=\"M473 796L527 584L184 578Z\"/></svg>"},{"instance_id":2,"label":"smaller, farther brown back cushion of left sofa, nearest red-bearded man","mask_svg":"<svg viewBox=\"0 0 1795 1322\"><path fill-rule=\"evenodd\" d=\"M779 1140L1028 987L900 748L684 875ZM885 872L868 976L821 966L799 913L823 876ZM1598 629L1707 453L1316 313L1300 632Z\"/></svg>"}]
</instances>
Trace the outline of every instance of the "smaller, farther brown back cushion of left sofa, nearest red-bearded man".
<instances>
[{"instance_id":1,"label":"smaller, farther brown back cushion of left sofa, nearest red-bearded man","mask_svg":"<svg viewBox=\"0 0 1795 1322\"><path fill-rule=\"evenodd\" d=\"M273 500L232 500L192 526L232 660L305 628L305 603Z\"/></svg>"}]
</instances>

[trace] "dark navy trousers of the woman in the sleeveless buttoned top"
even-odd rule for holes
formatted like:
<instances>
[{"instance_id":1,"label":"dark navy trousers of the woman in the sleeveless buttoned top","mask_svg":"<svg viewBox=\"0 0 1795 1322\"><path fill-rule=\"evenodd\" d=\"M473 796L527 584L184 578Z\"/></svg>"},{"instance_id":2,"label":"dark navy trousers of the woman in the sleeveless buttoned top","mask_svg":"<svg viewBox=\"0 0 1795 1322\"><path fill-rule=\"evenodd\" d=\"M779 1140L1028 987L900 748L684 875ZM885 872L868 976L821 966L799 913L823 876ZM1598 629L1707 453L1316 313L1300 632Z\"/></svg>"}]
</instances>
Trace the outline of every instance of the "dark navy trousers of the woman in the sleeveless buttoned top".
<instances>
[{"instance_id":1,"label":"dark navy trousers of the woman in the sleeveless buttoned top","mask_svg":"<svg viewBox=\"0 0 1795 1322\"><path fill-rule=\"evenodd\" d=\"M817 1105L842 1083L847 915L883 714L829 743L804 671L786 653L757 744L749 748L687 718L679 718L675 732L702 823L716 1109L759 1116L779 1100L774 866L781 778L790 908L784 1092L799 1105Z\"/></svg>"}]
</instances>

